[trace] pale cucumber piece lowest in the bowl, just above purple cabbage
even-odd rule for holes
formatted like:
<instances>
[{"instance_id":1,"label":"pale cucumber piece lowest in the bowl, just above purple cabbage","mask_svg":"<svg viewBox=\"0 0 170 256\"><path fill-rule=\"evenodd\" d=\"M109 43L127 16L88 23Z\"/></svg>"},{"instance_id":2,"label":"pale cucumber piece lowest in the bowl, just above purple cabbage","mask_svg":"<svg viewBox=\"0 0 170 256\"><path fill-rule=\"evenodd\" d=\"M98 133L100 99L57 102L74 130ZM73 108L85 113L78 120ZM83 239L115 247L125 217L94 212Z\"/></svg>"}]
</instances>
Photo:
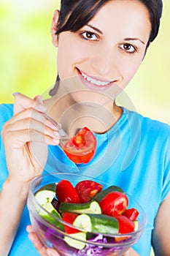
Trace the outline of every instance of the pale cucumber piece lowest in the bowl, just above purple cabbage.
<instances>
[{"instance_id":1,"label":"pale cucumber piece lowest in the bowl, just above purple cabbage","mask_svg":"<svg viewBox=\"0 0 170 256\"><path fill-rule=\"evenodd\" d=\"M63 238L63 240L66 241L66 244L69 244L69 246L72 246L76 249L85 248L85 243L83 243L82 241L77 241L76 239L86 241L86 233L78 232L74 234L69 234L69 236L64 236Z\"/></svg>"}]
</instances>

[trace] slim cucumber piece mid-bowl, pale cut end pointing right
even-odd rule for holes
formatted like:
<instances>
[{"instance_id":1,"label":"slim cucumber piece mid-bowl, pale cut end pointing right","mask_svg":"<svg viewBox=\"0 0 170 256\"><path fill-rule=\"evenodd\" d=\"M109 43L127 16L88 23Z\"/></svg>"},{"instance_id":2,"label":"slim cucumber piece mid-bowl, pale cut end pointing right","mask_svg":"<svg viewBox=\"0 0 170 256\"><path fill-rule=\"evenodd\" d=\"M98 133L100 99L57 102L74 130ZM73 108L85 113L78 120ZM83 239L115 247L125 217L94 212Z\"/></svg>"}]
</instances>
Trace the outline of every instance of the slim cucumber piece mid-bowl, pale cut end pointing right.
<instances>
[{"instance_id":1,"label":"slim cucumber piece mid-bowl, pale cut end pointing right","mask_svg":"<svg viewBox=\"0 0 170 256\"><path fill-rule=\"evenodd\" d=\"M60 212L74 212L75 214L101 214L101 208L96 201L88 203L61 203Z\"/></svg>"}]
</instances>

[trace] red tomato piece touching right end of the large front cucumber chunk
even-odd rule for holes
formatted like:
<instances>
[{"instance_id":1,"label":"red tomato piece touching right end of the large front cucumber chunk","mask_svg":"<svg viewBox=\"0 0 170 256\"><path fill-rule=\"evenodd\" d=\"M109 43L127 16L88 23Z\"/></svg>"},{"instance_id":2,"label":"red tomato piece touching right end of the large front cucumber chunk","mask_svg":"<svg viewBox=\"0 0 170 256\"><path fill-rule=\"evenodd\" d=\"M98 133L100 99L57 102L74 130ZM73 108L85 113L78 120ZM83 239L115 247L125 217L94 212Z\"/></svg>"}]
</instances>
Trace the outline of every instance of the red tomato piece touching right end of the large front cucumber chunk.
<instances>
[{"instance_id":1,"label":"red tomato piece touching right end of the large front cucumber chunk","mask_svg":"<svg viewBox=\"0 0 170 256\"><path fill-rule=\"evenodd\" d=\"M123 215L115 215L115 219L119 222L119 231L120 234L126 234L134 232L134 222L131 219Z\"/></svg>"}]
</instances>

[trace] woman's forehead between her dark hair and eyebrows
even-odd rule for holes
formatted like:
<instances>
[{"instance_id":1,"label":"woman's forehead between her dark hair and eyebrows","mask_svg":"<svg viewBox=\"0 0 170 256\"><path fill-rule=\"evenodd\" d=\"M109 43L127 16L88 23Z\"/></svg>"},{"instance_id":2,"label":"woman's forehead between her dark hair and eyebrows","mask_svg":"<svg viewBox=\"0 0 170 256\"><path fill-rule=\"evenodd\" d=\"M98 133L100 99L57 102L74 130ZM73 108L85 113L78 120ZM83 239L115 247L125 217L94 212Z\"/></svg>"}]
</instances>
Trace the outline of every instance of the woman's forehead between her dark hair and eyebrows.
<instances>
[{"instance_id":1,"label":"woman's forehead between her dark hair and eyebrows","mask_svg":"<svg viewBox=\"0 0 170 256\"><path fill-rule=\"evenodd\" d=\"M138 0L109 0L104 4L89 24L100 27L101 30L120 30L127 33L138 34L144 32L150 34L150 13Z\"/></svg>"}]
</instances>

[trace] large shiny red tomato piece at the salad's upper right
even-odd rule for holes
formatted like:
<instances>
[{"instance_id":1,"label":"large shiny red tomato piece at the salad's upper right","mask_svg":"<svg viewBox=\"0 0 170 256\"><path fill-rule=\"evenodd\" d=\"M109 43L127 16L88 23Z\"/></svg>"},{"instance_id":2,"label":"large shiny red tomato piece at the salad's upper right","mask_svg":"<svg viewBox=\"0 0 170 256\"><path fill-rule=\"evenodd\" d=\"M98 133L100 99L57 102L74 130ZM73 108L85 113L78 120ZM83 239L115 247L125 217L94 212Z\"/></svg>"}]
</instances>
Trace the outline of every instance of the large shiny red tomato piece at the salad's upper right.
<instances>
[{"instance_id":1,"label":"large shiny red tomato piece at the salad's upper right","mask_svg":"<svg viewBox=\"0 0 170 256\"><path fill-rule=\"evenodd\" d=\"M115 217L117 214L123 214L128 207L128 197L122 192L109 192L101 199L99 205L101 206L102 214Z\"/></svg>"}]
</instances>

